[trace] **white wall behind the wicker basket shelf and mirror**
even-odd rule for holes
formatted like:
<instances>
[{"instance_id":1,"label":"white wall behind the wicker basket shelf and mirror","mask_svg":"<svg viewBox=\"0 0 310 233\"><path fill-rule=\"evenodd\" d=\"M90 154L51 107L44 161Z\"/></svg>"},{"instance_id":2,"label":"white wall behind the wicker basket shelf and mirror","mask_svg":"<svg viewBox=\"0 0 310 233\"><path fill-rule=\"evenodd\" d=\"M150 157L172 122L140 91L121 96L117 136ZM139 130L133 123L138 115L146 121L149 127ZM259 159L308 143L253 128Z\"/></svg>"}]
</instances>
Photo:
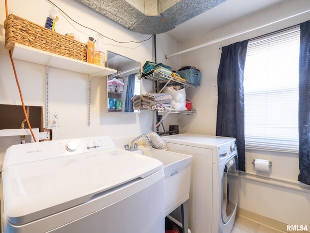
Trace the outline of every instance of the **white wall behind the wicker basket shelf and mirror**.
<instances>
[{"instance_id":1,"label":"white wall behind the wicker basket shelf and mirror","mask_svg":"<svg viewBox=\"0 0 310 233\"><path fill-rule=\"evenodd\" d=\"M117 41L142 41L151 35L132 32L123 26L104 17L75 0L53 0L67 15L84 26L90 27L107 37ZM47 1L10 0L9 14L24 17L31 22L44 26L51 5ZM0 104L21 105L14 73L8 50L4 49L5 5L0 2ZM88 36L96 33L79 26L77 23L59 16L59 33L77 33L80 41L86 43ZM177 43L168 35L157 36L160 44L165 45L165 51L178 50ZM153 38L142 43L116 43L103 39L104 49L111 50L131 59L139 61L141 67L146 61L154 61ZM163 48L157 47L157 62L163 62ZM167 65L177 66L179 58L173 58ZM45 74L46 67L25 61L15 60L17 76L23 93L25 105L43 106L45 108ZM91 125L88 126L87 111L87 75L72 71L49 67L49 110L61 114L61 126L58 127L55 139L110 135L112 138L124 138L147 133L153 129L154 112L142 111L140 114L107 113L106 78L93 77L91 81ZM152 82L142 83L142 91L151 92ZM45 109L44 109L45 112ZM45 118L45 116L44 116ZM128 140L129 140L128 139ZM116 140L122 146L122 139ZM128 141L126 141L128 142ZM1 148L2 157L4 153Z\"/></svg>"}]
</instances>

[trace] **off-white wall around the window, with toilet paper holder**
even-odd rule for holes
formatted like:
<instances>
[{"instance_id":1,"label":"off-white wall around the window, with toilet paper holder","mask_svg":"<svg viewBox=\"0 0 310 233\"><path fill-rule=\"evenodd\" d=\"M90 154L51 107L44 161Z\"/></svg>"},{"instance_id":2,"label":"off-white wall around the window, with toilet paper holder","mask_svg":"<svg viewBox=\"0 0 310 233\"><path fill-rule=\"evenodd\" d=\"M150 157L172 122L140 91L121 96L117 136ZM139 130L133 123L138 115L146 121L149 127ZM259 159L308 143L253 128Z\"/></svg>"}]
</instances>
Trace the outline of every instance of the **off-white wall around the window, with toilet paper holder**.
<instances>
[{"instance_id":1,"label":"off-white wall around the window, with toilet paper holder","mask_svg":"<svg viewBox=\"0 0 310 233\"><path fill-rule=\"evenodd\" d=\"M252 30L309 8L309 0L284 1L282 4L271 7L266 11L252 14L238 22L233 22L225 27L193 38L183 43L181 50L223 36ZM187 92L187 97L192 100L193 106L197 109L197 116L192 121L184 120L182 131L211 135L216 133L217 70L221 56L219 48L293 26L309 19L310 13L303 14L180 55L181 66L196 66L202 72L199 89L189 89ZM170 54L167 53L167 55ZM256 172L252 165L252 160L255 158L272 161L271 172L269 174ZM242 175L239 199L240 208L286 224L308 224L309 227L310 187L297 182L299 173L297 153L247 150L246 170L249 174ZM251 174L254 174L254 176ZM261 176L266 178L260 178Z\"/></svg>"}]
</instances>

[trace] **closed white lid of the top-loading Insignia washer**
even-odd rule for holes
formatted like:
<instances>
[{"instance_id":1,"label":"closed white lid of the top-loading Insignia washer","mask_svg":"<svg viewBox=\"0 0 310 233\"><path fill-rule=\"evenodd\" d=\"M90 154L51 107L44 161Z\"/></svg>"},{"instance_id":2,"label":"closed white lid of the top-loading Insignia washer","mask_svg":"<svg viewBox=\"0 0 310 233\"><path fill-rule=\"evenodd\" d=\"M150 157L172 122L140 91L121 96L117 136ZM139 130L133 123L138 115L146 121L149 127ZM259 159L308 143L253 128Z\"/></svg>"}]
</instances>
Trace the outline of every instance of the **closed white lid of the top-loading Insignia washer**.
<instances>
[{"instance_id":1,"label":"closed white lid of the top-loading Insignia washer","mask_svg":"<svg viewBox=\"0 0 310 233\"><path fill-rule=\"evenodd\" d=\"M117 148L6 166L2 171L5 215L22 225L161 169L158 160Z\"/></svg>"}]
</instances>

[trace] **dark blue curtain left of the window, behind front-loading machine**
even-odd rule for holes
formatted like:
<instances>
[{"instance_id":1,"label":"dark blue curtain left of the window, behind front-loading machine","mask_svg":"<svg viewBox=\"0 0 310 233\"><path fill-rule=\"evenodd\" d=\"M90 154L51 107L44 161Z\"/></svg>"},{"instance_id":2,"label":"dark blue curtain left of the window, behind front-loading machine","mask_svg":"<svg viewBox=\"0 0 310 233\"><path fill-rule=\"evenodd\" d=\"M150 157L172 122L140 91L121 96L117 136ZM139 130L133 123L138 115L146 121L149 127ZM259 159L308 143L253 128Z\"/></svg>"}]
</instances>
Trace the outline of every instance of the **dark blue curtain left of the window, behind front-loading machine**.
<instances>
[{"instance_id":1,"label":"dark blue curtain left of the window, behind front-loading machine","mask_svg":"<svg viewBox=\"0 0 310 233\"><path fill-rule=\"evenodd\" d=\"M235 137L239 169L246 170L243 73L248 40L222 48L217 73L217 136Z\"/></svg>"}]
</instances>

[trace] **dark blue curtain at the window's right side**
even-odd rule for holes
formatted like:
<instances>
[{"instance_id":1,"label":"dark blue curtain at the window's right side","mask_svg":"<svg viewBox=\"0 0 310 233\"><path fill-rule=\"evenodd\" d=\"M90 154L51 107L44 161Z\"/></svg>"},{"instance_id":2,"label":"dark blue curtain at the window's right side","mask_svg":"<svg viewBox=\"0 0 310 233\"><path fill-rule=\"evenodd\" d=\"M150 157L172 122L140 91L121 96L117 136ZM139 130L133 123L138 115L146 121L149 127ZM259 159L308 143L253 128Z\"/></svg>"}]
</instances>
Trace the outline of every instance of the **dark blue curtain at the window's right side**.
<instances>
[{"instance_id":1,"label":"dark blue curtain at the window's right side","mask_svg":"<svg viewBox=\"0 0 310 233\"><path fill-rule=\"evenodd\" d=\"M300 24L298 108L298 181L310 185L310 21Z\"/></svg>"}]
</instances>

